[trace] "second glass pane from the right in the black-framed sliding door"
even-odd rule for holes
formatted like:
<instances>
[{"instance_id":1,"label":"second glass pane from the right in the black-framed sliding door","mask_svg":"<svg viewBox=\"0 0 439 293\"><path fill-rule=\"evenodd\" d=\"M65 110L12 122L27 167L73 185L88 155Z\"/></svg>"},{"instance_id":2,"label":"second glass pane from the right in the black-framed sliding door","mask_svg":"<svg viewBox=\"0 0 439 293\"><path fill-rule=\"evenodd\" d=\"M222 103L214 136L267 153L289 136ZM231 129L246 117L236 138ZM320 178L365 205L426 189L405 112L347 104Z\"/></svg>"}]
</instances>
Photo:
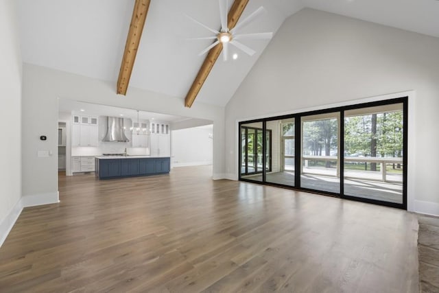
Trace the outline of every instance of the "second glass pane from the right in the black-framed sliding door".
<instances>
[{"instance_id":1,"label":"second glass pane from the right in the black-framed sliding door","mask_svg":"<svg viewBox=\"0 0 439 293\"><path fill-rule=\"evenodd\" d=\"M340 194L339 113L302 117L300 186Z\"/></svg>"}]
</instances>

